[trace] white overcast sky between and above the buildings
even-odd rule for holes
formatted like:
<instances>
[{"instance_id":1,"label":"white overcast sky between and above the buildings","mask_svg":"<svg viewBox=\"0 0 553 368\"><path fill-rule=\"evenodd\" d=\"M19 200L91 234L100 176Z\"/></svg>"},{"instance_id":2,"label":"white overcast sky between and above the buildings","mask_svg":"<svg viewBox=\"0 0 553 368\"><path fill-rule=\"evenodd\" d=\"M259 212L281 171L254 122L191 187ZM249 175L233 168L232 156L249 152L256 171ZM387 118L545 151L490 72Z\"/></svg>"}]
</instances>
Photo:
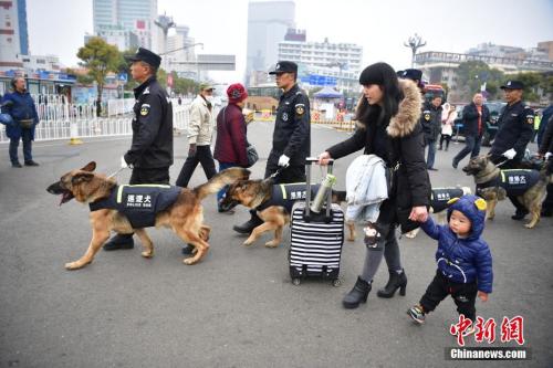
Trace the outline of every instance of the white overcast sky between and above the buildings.
<instances>
[{"instance_id":1,"label":"white overcast sky between and above the buildings","mask_svg":"<svg viewBox=\"0 0 553 368\"><path fill-rule=\"evenodd\" d=\"M309 41L352 42L363 46L366 65L385 61L410 65L403 46L418 33L422 51L465 52L482 42L532 48L553 41L553 0L295 0L296 27ZM177 24L204 43L198 53L237 55L236 72L218 72L225 82L241 80L246 70L248 0L158 0ZM85 32L92 33L92 0L27 0L29 43L33 54L56 54L76 65Z\"/></svg>"}]
</instances>

